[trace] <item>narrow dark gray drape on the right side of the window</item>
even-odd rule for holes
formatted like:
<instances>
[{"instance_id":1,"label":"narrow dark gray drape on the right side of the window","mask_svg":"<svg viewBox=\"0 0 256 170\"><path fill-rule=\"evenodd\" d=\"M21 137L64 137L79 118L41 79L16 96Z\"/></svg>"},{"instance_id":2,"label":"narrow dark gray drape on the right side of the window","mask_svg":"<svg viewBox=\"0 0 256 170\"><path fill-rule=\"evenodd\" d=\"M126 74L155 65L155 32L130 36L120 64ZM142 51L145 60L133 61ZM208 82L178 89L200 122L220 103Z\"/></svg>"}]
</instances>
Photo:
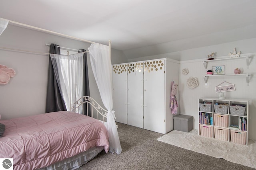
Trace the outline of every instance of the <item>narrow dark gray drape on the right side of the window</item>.
<instances>
[{"instance_id":1,"label":"narrow dark gray drape on the right side of the window","mask_svg":"<svg viewBox=\"0 0 256 170\"><path fill-rule=\"evenodd\" d=\"M84 52L86 50L80 49L78 52ZM89 76L88 76L88 66L87 66L87 54L84 53L84 74L83 74L83 82L84 82L84 89L83 89L83 96L90 96L90 88L89 88ZM88 116L91 116L90 107L86 107L84 104L84 110L88 109ZM84 113L85 114L85 113Z\"/></svg>"}]
</instances>

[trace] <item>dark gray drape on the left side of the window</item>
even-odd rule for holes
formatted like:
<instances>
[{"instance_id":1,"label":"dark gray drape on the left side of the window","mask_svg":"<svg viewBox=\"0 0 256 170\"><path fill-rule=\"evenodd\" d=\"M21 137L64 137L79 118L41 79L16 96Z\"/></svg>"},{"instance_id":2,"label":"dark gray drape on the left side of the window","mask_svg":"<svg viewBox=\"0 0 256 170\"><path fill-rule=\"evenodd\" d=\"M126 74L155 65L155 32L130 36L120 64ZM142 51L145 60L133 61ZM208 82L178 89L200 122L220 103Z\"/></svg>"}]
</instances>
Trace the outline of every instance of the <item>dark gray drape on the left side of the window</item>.
<instances>
[{"instance_id":1,"label":"dark gray drape on the left side of the window","mask_svg":"<svg viewBox=\"0 0 256 170\"><path fill-rule=\"evenodd\" d=\"M56 44L50 45L50 54L60 54L60 48ZM60 89L54 74L52 60L49 55L48 64L48 82L47 82L47 94L46 94L46 109L45 113L54 111L64 111L67 110L64 100L60 94Z\"/></svg>"}]
</instances>

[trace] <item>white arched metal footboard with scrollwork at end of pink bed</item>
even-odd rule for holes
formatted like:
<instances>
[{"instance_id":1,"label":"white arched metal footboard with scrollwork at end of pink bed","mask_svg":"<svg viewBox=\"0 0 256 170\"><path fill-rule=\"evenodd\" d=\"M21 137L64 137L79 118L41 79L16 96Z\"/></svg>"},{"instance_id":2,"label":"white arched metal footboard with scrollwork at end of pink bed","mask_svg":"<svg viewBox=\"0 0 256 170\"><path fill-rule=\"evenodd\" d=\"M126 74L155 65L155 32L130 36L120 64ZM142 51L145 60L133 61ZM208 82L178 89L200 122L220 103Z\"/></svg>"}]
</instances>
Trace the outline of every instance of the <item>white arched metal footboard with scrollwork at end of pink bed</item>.
<instances>
[{"instance_id":1,"label":"white arched metal footboard with scrollwork at end of pink bed","mask_svg":"<svg viewBox=\"0 0 256 170\"><path fill-rule=\"evenodd\" d=\"M84 108L85 106L86 108ZM76 103L71 104L72 111L77 113L83 113L84 115L90 115L95 119L106 122L107 113L108 111L104 109L102 106L98 104L93 98L90 96L83 96L82 98L78 99ZM90 109L89 109L90 108Z\"/></svg>"}]
</instances>

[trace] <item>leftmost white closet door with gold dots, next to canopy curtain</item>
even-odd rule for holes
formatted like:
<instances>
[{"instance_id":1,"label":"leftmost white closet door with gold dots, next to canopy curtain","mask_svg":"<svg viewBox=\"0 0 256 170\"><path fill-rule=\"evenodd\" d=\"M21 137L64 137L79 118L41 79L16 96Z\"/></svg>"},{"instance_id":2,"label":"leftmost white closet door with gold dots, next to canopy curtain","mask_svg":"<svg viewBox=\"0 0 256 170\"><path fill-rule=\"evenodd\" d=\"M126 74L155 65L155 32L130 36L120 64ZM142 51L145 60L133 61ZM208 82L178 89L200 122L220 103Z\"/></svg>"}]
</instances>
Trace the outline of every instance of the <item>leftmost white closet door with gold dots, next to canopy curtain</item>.
<instances>
[{"instance_id":1,"label":"leftmost white closet door with gold dots, next to canopy curtain","mask_svg":"<svg viewBox=\"0 0 256 170\"><path fill-rule=\"evenodd\" d=\"M113 110L116 121L127 124L127 64L112 65Z\"/></svg>"}]
</instances>

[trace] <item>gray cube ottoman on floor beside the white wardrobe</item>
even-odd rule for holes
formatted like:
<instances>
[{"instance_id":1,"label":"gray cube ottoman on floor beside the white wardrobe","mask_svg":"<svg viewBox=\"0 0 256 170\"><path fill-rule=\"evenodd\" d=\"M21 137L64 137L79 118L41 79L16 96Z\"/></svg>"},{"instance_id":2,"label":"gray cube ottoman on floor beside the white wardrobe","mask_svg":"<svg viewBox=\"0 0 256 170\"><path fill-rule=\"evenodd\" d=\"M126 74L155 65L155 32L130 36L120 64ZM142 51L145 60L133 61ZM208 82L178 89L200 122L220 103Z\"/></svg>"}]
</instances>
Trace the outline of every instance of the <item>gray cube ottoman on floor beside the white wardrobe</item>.
<instances>
[{"instance_id":1,"label":"gray cube ottoman on floor beside the white wardrobe","mask_svg":"<svg viewBox=\"0 0 256 170\"><path fill-rule=\"evenodd\" d=\"M189 115L175 115L174 120L174 130L189 132L193 129L193 116Z\"/></svg>"}]
</instances>

